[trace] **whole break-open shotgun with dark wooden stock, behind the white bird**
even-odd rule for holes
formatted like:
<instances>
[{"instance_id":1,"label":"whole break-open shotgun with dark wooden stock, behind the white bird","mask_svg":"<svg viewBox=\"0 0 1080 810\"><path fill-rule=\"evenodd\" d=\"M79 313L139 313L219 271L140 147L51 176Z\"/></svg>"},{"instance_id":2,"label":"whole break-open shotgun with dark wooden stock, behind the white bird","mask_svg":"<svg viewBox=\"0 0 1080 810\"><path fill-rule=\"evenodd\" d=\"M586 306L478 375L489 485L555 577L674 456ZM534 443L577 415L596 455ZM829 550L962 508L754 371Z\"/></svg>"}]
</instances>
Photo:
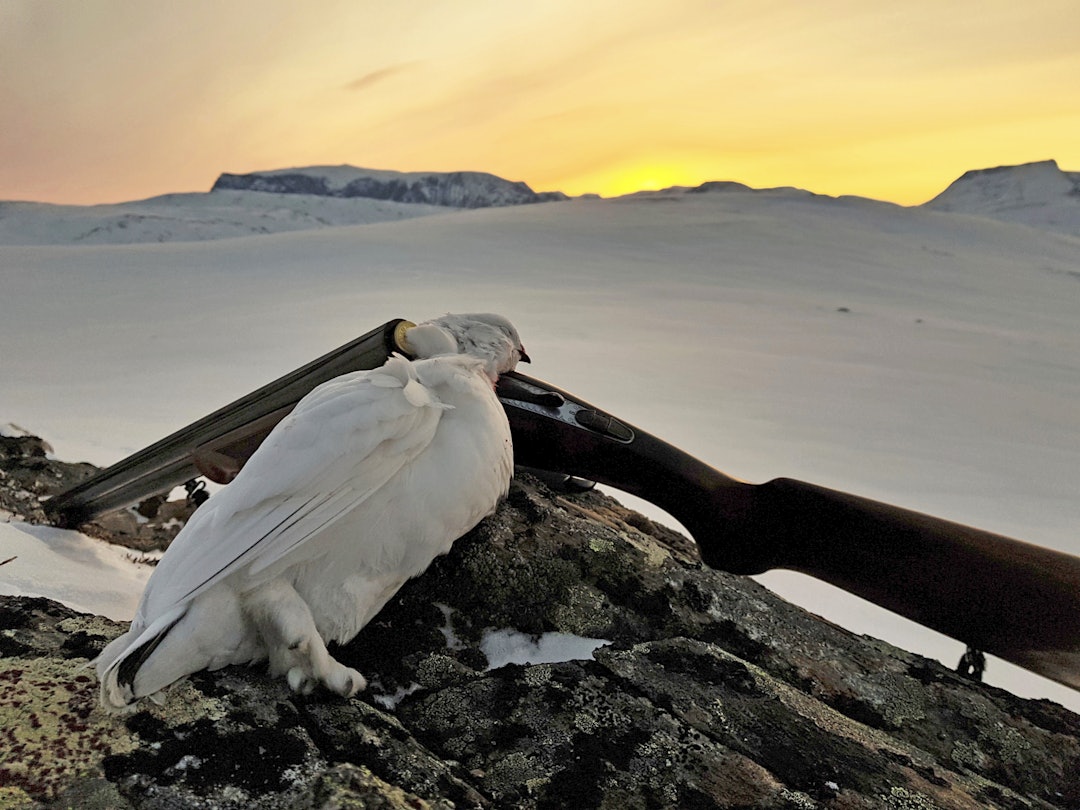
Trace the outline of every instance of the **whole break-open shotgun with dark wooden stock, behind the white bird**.
<instances>
[{"instance_id":1,"label":"whole break-open shotgun with dark wooden stock, behind the white bird","mask_svg":"<svg viewBox=\"0 0 1080 810\"><path fill-rule=\"evenodd\" d=\"M200 474L229 483L315 386L408 353L410 326L389 321L48 500L46 513L75 527ZM801 571L1080 689L1080 557L789 478L748 484L517 372L497 393L516 464L656 503L706 565Z\"/></svg>"}]
</instances>

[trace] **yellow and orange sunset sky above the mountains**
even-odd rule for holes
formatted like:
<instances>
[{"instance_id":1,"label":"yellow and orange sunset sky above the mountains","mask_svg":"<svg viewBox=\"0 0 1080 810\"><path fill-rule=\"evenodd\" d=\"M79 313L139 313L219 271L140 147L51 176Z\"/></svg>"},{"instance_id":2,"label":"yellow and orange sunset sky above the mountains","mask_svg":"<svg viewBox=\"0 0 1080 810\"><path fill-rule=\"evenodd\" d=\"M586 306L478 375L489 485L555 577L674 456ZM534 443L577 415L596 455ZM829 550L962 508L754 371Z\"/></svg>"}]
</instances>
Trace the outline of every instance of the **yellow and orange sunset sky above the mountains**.
<instances>
[{"instance_id":1,"label":"yellow and orange sunset sky above the mountains","mask_svg":"<svg viewBox=\"0 0 1080 810\"><path fill-rule=\"evenodd\" d=\"M917 204L1080 171L1077 31L1076 0L2 0L0 200L349 163Z\"/></svg>"}]
</instances>

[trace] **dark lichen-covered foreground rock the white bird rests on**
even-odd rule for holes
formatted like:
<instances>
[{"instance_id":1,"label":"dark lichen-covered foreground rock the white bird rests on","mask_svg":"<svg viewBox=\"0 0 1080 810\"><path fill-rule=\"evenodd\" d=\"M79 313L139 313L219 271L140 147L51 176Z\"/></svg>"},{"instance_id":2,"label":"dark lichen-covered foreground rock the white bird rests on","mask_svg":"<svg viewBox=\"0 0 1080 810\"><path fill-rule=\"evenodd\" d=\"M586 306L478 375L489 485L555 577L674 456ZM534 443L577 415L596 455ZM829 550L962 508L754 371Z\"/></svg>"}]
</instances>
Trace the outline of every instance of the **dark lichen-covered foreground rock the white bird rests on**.
<instances>
[{"instance_id":1,"label":"dark lichen-covered foreground rock the white bird rests on","mask_svg":"<svg viewBox=\"0 0 1080 810\"><path fill-rule=\"evenodd\" d=\"M527 476L335 651L370 681L354 699L229 667L107 716L83 664L122 630L0 597L0 806L1080 806L1080 717L855 636L603 495ZM494 630L610 644L488 669Z\"/></svg>"}]
</instances>

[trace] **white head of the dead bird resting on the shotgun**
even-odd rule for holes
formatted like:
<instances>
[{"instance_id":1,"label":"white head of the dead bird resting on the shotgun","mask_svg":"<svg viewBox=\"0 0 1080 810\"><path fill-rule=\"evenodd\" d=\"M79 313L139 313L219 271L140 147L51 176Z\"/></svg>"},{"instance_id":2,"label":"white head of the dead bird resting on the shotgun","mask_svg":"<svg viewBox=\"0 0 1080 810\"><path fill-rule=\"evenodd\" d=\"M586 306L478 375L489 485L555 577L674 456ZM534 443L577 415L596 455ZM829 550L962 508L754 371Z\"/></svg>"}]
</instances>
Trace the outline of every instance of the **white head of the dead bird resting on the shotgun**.
<instances>
[{"instance_id":1,"label":"white head of the dead bird resting on the shotgun","mask_svg":"<svg viewBox=\"0 0 1080 810\"><path fill-rule=\"evenodd\" d=\"M502 315L477 313L446 314L408 330L408 342L417 357L438 354L469 354L484 361L491 380L528 363L517 329Z\"/></svg>"}]
</instances>

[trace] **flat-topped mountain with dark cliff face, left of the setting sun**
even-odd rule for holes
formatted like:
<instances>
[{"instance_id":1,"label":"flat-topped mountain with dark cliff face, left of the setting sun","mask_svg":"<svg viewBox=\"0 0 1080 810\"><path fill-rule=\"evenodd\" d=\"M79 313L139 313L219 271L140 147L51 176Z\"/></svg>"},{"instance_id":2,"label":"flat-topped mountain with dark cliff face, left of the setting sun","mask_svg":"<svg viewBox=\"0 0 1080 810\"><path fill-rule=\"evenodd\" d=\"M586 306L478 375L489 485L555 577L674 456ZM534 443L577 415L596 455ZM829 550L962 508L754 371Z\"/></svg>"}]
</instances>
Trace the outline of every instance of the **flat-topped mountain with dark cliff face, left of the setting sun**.
<instances>
[{"instance_id":1,"label":"flat-topped mountain with dark cliff face, left of the setting sun","mask_svg":"<svg viewBox=\"0 0 1080 810\"><path fill-rule=\"evenodd\" d=\"M568 199L561 191L538 193L524 183L505 180L486 172L384 172L349 165L222 174L214 189L361 197L454 208L489 208Z\"/></svg>"}]
</instances>

